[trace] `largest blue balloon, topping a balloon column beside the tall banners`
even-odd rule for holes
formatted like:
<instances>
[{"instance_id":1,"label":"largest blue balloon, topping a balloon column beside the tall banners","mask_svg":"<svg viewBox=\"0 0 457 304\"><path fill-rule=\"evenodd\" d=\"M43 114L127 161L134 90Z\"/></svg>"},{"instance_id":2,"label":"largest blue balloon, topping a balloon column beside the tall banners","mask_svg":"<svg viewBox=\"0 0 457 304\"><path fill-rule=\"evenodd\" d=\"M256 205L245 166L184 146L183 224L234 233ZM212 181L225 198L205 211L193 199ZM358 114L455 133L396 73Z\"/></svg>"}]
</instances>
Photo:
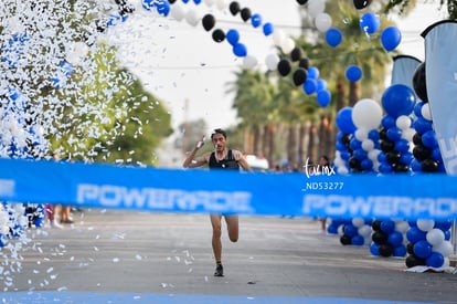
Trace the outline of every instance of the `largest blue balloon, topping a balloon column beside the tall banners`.
<instances>
[{"instance_id":1,"label":"largest blue balloon, topping a balloon column beside the tall banners","mask_svg":"<svg viewBox=\"0 0 457 304\"><path fill-rule=\"evenodd\" d=\"M393 117L410 115L416 102L413 90L404 84L387 87L382 95L382 106Z\"/></svg>"}]
</instances>

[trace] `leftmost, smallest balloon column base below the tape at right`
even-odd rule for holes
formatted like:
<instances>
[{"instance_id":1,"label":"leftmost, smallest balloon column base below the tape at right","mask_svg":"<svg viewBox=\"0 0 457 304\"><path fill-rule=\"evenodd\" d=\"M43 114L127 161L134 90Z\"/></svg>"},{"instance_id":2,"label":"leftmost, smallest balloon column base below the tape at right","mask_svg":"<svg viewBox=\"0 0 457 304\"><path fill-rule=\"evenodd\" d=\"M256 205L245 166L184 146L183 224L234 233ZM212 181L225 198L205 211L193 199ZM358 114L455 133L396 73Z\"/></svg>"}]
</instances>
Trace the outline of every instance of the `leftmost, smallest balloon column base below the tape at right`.
<instances>
[{"instance_id":1,"label":"leftmost, smallest balloon column base below the tape at right","mask_svg":"<svg viewBox=\"0 0 457 304\"><path fill-rule=\"evenodd\" d=\"M364 245L370 242L371 221L360 218L346 221L340 242L343 245Z\"/></svg>"}]
</instances>

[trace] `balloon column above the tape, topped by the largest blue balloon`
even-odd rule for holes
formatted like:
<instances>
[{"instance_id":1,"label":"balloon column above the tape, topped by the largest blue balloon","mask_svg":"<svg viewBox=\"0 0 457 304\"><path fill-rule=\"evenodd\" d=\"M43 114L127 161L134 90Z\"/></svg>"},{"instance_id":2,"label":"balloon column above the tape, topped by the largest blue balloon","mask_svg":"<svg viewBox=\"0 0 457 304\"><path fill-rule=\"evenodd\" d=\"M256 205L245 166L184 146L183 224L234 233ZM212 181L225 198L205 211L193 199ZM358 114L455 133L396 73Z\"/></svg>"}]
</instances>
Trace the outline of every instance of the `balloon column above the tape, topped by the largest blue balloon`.
<instances>
[{"instance_id":1,"label":"balloon column above the tape, topped by the largest blue balloon","mask_svg":"<svg viewBox=\"0 0 457 304\"><path fill-rule=\"evenodd\" d=\"M381 174L408 172L413 154L410 151L414 129L410 115L415 105L412 88L404 84L393 84L382 95L382 106L386 115L380 132L381 153L379 171Z\"/></svg>"}]
</instances>

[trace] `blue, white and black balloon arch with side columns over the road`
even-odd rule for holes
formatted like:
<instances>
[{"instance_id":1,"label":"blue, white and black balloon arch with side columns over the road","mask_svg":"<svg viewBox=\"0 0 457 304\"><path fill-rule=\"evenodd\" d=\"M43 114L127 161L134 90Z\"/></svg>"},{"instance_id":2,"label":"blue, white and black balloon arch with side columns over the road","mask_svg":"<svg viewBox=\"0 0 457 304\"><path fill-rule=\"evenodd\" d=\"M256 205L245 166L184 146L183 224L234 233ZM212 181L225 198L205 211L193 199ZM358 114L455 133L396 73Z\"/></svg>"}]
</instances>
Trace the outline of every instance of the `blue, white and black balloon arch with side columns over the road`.
<instances>
[{"instance_id":1,"label":"blue, white and black balloon arch with side columns over the road","mask_svg":"<svg viewBox=\"0 0 457 304\"><path fill-rule=\"evenodd\" d=\"M55 90L71 86L73 66L77 65L86 55L88 49L95 43L98 34L105 33L109 28L126 22L136 7L127 0L116 0L117 11L107 18L98 19L94 28L84 35L84 40L72 43L70 51L61 54L52 76L41 74L43 82ZM200 17L192 8L185 11L184 7L191 3L208 7L216 6L220 10L228 10L233 17L240 17L243 22L249 22L254 29L261 29L265 36L272 36L274 44L286 56L279 57L276 53L267 55L265 65L269 71L277 71L281 76L293 74L296 86L301 86L306 95L316 95L320 106L327 106L331 102L331 94L327 83L319 75L319 70L310 65L304 51L295 45L291 38L285 35L281 30L270 22L264 22L262 14L253 13L247 7L242 8L236 1L225 0L142 0L144 10L160 17L171 17L177 21L185 20L190 25L201 23L214 42L227 41L233 54L243 59L245 69L254 69L258 60L251 55L237 29L227 31L217 28L217 20L212 13ZM330 48L338 48L342 42L342 32L331 25L332 20L325 12L325 1L297 0L298 4L307 4L308 13L313 18L315 25L325 35ZM371 1L354 0L354 8L365 9ZM38 3L36 6L40 6ZM33 9L31 10L33 12ZM380 18L372 12L365 12L360 19L361 33L373 34L380 30ZM6 30L9 28L6 27ZM17 29L15 29L17 30ZM26 51L33 50L33 36L28 31L9 33L10 39L2 45L2 62L10 70L21 65L21 60ZM383 29L380 40L386 52L395 50L402 35L395 27ZM394 61L397 66L404 62L404 57ZM406 57L411 63L411 57ZM55 63L55 59L52 61ZM432 128L433 120L425 88L425 63L412 60L413 64L406 64L400 70L406 75L405 81L392 83L383 93L382 105L373 99L359 101L353 108L343 108L338 113L336 124L339 128L337 136L337 154L334 166L339 174L421 174L445 172L444 161L440 155L436 134ZM394 66L395 72L395 66ZM397 71L396 71L397 72ZM396 74L395 74L396 75ZM395 78L393 73L393 78ZM362 78L362 71L358 65L349 65L346 77L350 82ZM410 78L407 78L410 77ZM414 78L413 87L411 80ZM17 81L12 83L18 83ZM0 134L0 144L3 155L9 157L29 158L40 156L45 145L45 133L40 132L39 125L30 125L24 118L23 112L28 109L26 90L8 84L2 102L2 119L9 126L9 134ZM383 116L383 111L386 113ZM18 127L19 126L19 127ZM18 136L18 130L22 134ZM23 140L20 140L20 139ZM25 139L26 140L25 140ZM43 224L43 211L39 206L33 210L10 203L3 203L1 223L3 233L0 233L0 247L8 243L11 237L21 235L21 231L28 226L41 227ZM11 221L11 214L17 220ZM6 223L9 227L6 228ZM404 220L378 220L378 219L332 219L328 232L341 234L342 244L370 245L370 253L376 256L406 256L408 268L426 265L443 268L449 264L448 256L451 253L450 229L451 222L414 221ZM7 231L8 230L8 231Z\"/></svg>"}]
</instances>

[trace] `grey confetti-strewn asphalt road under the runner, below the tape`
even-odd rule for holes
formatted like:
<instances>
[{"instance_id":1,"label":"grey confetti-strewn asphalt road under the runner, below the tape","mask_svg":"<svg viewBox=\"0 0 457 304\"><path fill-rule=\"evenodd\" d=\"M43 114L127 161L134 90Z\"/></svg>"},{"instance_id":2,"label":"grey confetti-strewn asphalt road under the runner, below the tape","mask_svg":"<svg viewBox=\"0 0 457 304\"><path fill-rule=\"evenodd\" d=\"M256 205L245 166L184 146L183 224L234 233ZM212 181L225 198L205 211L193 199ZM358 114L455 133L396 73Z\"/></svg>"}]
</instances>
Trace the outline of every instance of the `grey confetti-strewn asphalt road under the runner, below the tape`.
<instances>
[{"instance_id":1,"label":"grey confetti-strewn asphalt road under the runner, below the tape","mask_svg":"<svg viewBox=\"0 0 457 304\"><path fill-rule=\"evenodd\" d=\"M241 217L214 277L206 214L74 217L1 250L2 303L457 303L457 274L405 272L404 259L343 247L312 219Z\"/></svg>"}]
</instances>

